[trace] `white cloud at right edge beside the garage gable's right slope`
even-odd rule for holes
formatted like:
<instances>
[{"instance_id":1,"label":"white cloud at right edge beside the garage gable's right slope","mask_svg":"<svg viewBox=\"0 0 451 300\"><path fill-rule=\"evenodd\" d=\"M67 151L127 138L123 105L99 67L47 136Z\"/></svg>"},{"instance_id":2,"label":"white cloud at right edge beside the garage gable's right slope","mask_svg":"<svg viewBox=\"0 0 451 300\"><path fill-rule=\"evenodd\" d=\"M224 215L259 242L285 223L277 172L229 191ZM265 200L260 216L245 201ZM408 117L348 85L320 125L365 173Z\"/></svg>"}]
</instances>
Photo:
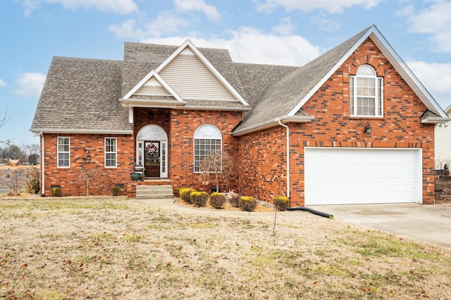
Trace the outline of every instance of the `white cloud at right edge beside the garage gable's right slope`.
<instances>
[{"instance_id":1,"label":"white cloud at right edge beside the garage gable's right slope","mask_svg":"<svg viewBox=\"0 0 451 300\"><path fill-rule=\"evenodd\" d=\"M412 60L406 64L443 109L451 104L451 63Z\"/></svg>"}]
</instances>

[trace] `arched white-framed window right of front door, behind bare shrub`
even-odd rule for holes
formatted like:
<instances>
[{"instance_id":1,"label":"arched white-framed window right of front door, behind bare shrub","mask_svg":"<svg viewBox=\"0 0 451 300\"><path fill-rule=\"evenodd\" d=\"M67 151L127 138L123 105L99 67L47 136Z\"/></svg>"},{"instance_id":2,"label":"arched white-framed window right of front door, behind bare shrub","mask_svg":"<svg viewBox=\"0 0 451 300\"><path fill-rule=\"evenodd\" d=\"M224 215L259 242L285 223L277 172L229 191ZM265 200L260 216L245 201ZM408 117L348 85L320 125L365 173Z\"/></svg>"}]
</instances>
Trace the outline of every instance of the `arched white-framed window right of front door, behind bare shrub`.
<instances>
[{"instance_id":1,"label":"arched white-framed window right of front door, behind bare shrub","mask_svg":"<svg viewBox=\"0 0 451 300\"><path fill-rule=\"evenodd\" d=\"M221 131L211 124L199 126L194 132L194 172L200 172L200 164L209 153L221 150Z\"/></svg>"}]
</instances>

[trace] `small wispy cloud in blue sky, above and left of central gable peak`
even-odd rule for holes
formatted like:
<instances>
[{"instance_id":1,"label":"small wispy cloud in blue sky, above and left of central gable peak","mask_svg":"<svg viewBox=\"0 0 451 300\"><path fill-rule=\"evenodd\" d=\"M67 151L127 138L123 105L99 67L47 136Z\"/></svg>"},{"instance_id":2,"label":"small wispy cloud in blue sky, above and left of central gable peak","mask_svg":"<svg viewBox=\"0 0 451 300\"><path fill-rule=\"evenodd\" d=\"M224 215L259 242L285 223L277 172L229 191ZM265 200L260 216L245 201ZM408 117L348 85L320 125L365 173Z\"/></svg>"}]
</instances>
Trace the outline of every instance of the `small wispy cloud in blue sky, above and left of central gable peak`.
<instances>
[{"instance_id":1,"label":"small wispy cloud in blue sky, above and left of central gable peak","mask_svg":"<svg viewBox=\"0 0 451 300\"><path fill-rule=\"evenodd\" d=\"M173 34L180 27L190 25L187 20L177 18L171 12L163 12L155 20L144 25L136 26L135 20L126 20L121 25L111 25L109 30L121 39L144 39L145 37L161 37L162 34Z\"/></svg>"}]
</instances>

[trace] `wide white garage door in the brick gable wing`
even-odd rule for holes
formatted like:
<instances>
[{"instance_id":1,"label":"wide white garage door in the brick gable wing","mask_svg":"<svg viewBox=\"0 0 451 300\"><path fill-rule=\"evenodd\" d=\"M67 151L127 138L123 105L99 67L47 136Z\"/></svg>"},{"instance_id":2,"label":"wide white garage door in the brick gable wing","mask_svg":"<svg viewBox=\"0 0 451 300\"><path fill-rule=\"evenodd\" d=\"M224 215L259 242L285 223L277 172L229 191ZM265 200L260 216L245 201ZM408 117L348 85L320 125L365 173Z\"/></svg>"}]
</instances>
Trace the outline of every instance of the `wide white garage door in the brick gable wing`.
<instances>
[{"instance_id":1,"label":"wide white garage door in the brick gable wing","mask_svg":"<svg viewBox=\"0 0 451 300\"><path fill-rule=\"evenodd\" d=\"M421 149L305 148L305 205L422 203Z\"/></svg>"}]
</instances>

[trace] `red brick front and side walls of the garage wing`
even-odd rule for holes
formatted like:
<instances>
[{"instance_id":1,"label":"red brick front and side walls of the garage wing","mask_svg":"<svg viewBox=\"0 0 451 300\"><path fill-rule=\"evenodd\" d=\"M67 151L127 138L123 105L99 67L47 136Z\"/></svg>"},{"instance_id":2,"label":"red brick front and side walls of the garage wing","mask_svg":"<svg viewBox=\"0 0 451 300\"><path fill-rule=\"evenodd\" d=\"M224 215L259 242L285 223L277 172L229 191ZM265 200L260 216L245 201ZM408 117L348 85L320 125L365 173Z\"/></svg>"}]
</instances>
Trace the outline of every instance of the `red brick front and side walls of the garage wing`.
<instances>
[{"instance_id":1,"label":"red brick front and side walls of the garage wing","mask_svg":"<svg viewBox=\"0 0 451 300\"><path fill-rule=\"evenodd\" d=\"M350 117L350 75L362 64L371 65L377 76L383 77L383 117ZM305 146L422 148L423 203L433 204L434 126L421 124L426 107L371 39L366 39L302 108L315 119L288 124L291 206L304 205ZM366 122L373 128L371 135L364 133ZM285 134L286 129L277 126L240 138L242 194L266 201L278 193L286 194Z\"/></svg>"}]
</instances>

